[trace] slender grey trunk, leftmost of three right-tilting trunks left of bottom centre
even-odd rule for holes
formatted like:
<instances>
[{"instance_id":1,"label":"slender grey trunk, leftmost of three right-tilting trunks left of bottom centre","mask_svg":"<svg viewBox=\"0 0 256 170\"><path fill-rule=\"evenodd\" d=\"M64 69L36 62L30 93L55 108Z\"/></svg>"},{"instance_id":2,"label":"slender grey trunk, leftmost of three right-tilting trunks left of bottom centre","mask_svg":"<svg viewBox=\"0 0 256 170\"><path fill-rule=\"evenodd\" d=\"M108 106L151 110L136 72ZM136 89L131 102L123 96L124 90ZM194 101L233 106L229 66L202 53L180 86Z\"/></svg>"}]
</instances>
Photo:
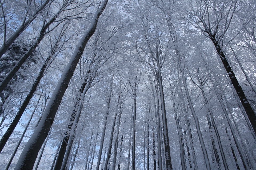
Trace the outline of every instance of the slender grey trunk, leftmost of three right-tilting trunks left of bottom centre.
<instances>
[{"instance_id":1,"label":"slender grey trunk, leftmost of three right-tilting trunks left of bottom centre","mask_svg":"<svg viewBox=\"0 0 256 170\"><path fill-rule=\"evenodd\" d=\"M104 138L105 138L106 126L107 126L107 116L109 115L109 107L110 107L113 79L114 79L114 75L112 77L112 82L111 82L111 87L110 87L110 92L109 92L109 99L107 100L107 112L106 112L106 116L105 116L105 120L104 120L104 124L103 124L103 130L102 130L102 135L101 135L101 146L99 147L99 156L98 156L96 170L99 170L99 164L101 163L101 155L102 155L103 143L104 143Z\"/></svg>"}]
</instances>

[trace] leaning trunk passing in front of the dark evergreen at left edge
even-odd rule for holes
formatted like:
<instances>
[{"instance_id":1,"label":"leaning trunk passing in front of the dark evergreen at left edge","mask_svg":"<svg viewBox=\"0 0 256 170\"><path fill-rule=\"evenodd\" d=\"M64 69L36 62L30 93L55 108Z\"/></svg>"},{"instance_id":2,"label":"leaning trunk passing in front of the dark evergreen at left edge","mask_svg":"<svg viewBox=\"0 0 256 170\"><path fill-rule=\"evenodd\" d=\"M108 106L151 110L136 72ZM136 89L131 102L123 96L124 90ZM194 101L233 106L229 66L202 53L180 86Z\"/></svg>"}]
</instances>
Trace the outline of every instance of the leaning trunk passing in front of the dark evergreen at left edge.
<instances>
[{"instance_id":1,"label":"leaning trunk passing in front of the dark evergreen at left edge","mask_svg":"<svg viewBox=\"0 0 256 170\"><path fill-rule=\"evenodd\" d=\"M2 91L6 88L7 84L10 82L10 80L13 78L13 76L17 73L17 71L20 69L20 67L23 65L23 63L31 56L33 51L37 48L38 44L42 41L43 37L46 35L47 28L50 27L50 25L57 19L59 14L69 5L69 3L65 2L63 3L62 7L59 9L59 11L54 15L53 18L51 18L47 23L44 22L44 25L39 33L39 36L37 40L30 46L29 50L19 59L19 61L15 64L15 66L11 69L11 71L6 75L6 77L3 79L3 81L0 83L0 94Z\"/></svg>"}]
</instances>

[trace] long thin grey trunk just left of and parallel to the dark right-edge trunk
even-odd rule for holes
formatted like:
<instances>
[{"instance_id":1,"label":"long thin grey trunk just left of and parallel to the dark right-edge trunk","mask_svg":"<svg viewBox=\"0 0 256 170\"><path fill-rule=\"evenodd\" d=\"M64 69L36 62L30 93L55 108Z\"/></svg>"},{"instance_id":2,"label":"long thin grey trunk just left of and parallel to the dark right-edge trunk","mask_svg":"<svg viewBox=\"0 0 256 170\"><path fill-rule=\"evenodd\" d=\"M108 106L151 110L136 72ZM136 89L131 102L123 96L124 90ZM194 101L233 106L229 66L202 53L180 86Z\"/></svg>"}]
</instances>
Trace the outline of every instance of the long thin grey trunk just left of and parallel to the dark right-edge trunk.
<instances>
[{"instance_id":1,"label":"long thin grey trunk just left of and parallel to the dark right-edge trunk","mask_svg":"<svg viewBox=\"0 0 256 170\"><path fill-rule=\"evenodd\" d=\"M203 57L202 57L202 58L203 58ZM205 59L204 59L204 58L203 58L203 61L205 62ZM228 122L228 124L229 124L231 133L232 133L233 138L234 138L234 141L235 141L235 145L236 145L237 150L238 150L238 152L239 152L239 155L240 155L240 157L241 157L241 159L242 159L243 166L244 166L245 170L249 170L250 168L248 167L248 165L247 165L247 163L246 163L246 158L245 158L245 156L244 156L244 154L243 154L243 152L242 152L242 148L241 148L241 146L240 146L240 144L239 144L239 142L238 142L237 136L236 136L236 134L235 134L235 131L234 131L234 129L233 129L233 126L232 126L232 124L231 124L231 121L230 121L230 119L229 119L229 116L228 116L228 114L227 114L227 111L226 111L226 109L225 109L225 107L224 107L224 105L223 105L223 102L222 102L222 100L221 100L221 98L220 98L220 96L219 96L219 93L218 93L218 91L217 91L217 89L216 89L216 87L215 87L215 84L214 84L214 82L213 82L213 80L212 80L212 78L211 78L210 71L209 71L209 69L208 69L208 66L207 66L206 62L205 62L205 66L206 66L206 69L207 69L207 72L208 72L208 76L209 76L209 78L210 78L210 80L211 80L211 83L213 84L213 88L214 88L215 94L216 94L216 96L217 96L217 98L218 98L218 100L219 100L219 103L221 104L222 110L223 110L223 112L224 112L224 114L225 114L225 116L226 116L227 122Z\"/></svg>"}]
</instances>

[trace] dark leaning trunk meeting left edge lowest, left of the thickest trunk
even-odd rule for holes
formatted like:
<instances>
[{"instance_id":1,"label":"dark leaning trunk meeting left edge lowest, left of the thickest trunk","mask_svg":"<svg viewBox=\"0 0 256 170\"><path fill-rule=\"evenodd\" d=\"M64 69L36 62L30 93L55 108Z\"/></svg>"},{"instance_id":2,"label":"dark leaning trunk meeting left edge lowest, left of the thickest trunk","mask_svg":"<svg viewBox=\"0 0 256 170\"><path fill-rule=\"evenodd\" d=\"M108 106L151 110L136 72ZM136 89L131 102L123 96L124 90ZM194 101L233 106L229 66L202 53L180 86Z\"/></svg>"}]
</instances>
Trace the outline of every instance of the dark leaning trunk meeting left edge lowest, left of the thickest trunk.
<instances>
[{"instance_id":1,"label":"dark leaning trunk meeting left edge lowest, left of the thickest trunk","mask_svg":"<svg viewBox=\"0 0 256 170\"><path fill-rule=\"evenodd\" d=\"M3 135L1 141L0 141L0 153L3 150L3 147L5 146L6 142L8 141L8 139L10 138L11 134L13 133L14 129L16 128L19 120L21 119L22 114L24 113L27 105L29 104L29 101L32 99L34 92L37 90L37 86L40 82L40 80L43 77L43 73L45 73L45 69L47 67L47 65L49 64L51 57L55 54L57 47L58 47L58 41L60 40L62 36L60 35L58 40L55 42L54 44L54 48L51 50L51 53L49 54L49 56L47 57L47 59L45 60L45 63L43 64L37 79L35 80L35 82L33 83L31 90L29 91L29 94L27 95L26 99L23 101L21 107L19 108L18 113L16 114L14 120L11 122L9 128L6 130L5 134Z\"/></svg>"}]
</instances>

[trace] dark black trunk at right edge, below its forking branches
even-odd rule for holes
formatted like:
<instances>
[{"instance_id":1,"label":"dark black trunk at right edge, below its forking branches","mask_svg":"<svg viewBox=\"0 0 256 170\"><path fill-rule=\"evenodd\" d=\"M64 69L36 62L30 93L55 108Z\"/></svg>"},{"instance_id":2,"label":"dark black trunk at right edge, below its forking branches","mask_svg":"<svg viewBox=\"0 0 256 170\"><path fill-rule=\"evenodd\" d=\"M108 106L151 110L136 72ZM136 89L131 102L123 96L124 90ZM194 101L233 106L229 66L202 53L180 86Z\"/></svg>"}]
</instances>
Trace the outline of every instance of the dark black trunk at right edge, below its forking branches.
<instances>
[{"instance_id":1,"label":"dark black trunk at right edge, below its forking branches","mask_svg":"<svg viewBox=\"0 0 256 170\"><path fill-rule=\"evenodd\" d=\"M218 42L216 41L215 37L213 37L213 39L211 39L213 41L213 44L219 54L219 57L221 58L221 61L229 75L229 78L237 92L237 95L239 96L239 99L243 105L243 107L245 108L245 112L251 122L251 125L253 127L254 133L256 134L256 115L253 111L253 109L251 108L251 105L249 103L249 101L247 100L242 87L240 86L240 84L237 81L237 78L235 77L235 74L233 72L233 70L231 69L229 63L227 62L227 59L224 55L224 53L222 52L222 48L220 47L220 45L218 44Z\"/></svg>"}]
</instances>

